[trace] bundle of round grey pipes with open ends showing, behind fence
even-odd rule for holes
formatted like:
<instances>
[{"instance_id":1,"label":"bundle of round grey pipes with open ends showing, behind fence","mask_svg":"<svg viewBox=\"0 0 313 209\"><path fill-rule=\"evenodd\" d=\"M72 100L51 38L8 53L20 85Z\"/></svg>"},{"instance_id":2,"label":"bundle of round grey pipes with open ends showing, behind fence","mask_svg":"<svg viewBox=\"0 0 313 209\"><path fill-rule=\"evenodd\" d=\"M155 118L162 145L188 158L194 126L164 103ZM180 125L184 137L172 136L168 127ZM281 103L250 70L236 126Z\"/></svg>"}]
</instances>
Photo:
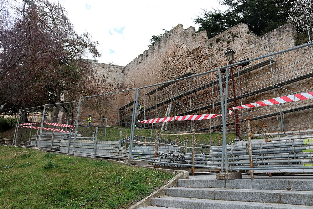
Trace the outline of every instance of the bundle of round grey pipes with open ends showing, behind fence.
<instances>
[{"instance_id":1,"label":"bundle of round grey pipes with open ends showing, behind fence","mask_svg":"<svg viewBox=\"0 0 313 209\"><path fill-rule=\"evenodd\" d=\"M168 167L188 167L192 165L192 154L191 153L162 153L157 158L149 158L150 160L156 161L152 165L157 166L168 166ZM205 165L208 162L209 156L206 154L195 154L194 165ZM171 163L171 164L167 164ZM185 165L173 165L173 164L185 164Z\"/></svg>"}]
</instances>

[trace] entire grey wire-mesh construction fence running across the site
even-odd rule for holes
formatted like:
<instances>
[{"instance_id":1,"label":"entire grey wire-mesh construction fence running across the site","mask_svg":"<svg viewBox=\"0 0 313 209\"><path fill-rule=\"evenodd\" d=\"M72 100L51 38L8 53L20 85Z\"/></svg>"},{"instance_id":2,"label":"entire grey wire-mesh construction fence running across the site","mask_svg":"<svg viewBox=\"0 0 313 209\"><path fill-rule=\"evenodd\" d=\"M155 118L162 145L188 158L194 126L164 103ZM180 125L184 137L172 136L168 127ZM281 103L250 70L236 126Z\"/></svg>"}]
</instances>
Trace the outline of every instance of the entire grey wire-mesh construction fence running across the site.
<instances>
[{"instance_id":1,"label":"entire grey wire-mesh construction fence running across the site","mask_svg":"<svg viewBox=\"0 0 313 209\"><path fill-rule=\"evenodd\" d=\"M275 52L274 44L268 44L242 62L218 67L219 57L188 68L171 81L81 97L71 103L72 108L64 108L71 109L72 114L54 121L75 127L60 127L72 132L63 135L54 130L55 141L50 134L50 149L57 150L55 143L60 138L57 151L63 153L141 159L154 166L222 172L311 171L312 45ZM236 60L248 58L240 50L238 54L241 57ZM251 59L253 56L256 58ZM247 62L250 64L245 65ZM48 128L42 117L47 106L19 114L18 124L37 123L22 119L30 112L41 118L41 133L29 134L28 146L49 145L42 132ZM91 128L87 123L89 114ZM36 124L24 126L32 125ZM120 134L111 135L107 128ZM27 142L19 136L16 131L14 144ZM30 138L35 143L30 143Z\"/></svg>"}]
</instances>

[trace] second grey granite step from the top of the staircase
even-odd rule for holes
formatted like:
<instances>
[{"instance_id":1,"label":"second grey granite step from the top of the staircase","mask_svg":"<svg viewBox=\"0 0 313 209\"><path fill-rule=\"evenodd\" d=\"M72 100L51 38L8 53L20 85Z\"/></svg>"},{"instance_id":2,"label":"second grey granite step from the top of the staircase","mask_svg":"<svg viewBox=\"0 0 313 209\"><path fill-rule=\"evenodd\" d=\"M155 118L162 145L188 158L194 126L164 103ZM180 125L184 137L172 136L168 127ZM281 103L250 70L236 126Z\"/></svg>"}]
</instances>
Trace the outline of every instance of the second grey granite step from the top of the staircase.
<instances>
[{"instance_id":1,"label":"second grey granite step from the top of the staircase","mask_svg":"<svg viewBox=\"0 0 313 209\"><path fill-rule=\"evenodd\" d=\"M172 187L167 196L313 206L313 191Z\"/></svg>"}]
</instances>

